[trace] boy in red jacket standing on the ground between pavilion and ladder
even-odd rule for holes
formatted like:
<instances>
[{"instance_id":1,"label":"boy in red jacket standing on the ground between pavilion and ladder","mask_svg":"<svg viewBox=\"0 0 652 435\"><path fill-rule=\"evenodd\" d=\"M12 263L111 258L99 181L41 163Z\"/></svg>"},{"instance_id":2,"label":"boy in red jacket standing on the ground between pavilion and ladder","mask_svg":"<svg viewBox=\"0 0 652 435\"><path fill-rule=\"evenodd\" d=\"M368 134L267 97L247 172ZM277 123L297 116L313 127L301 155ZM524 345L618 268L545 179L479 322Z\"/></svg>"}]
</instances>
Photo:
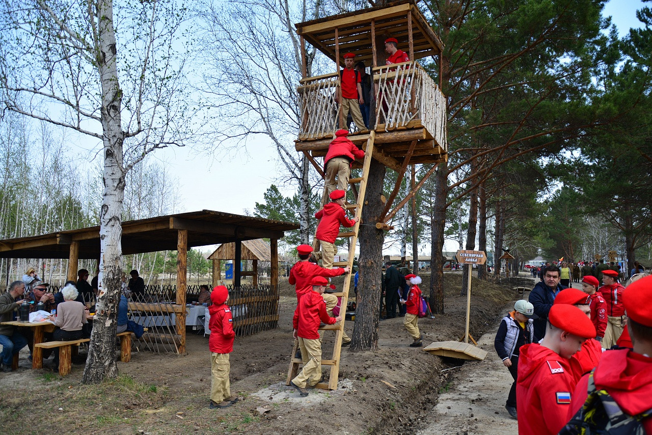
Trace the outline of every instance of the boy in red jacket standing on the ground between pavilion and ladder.
<instances>
[{"instance_id":1,"label":"boy in red jacket standing on the ground between pavilion and ladder","mask_svg":"<svg viewBox=\"0 0 652 435\"><path fill-rule=\"evenodd\" d=\"M213 305L208 308L211 314L211 338L208 340L211 349L211 409L228 408L238 401L236 396L231 396L229 384L229 354L233 351L235 332L231 310L226 304L228 298L228 289L224 285L218 285L211 293Z\"/></svg>"}]
</instances>

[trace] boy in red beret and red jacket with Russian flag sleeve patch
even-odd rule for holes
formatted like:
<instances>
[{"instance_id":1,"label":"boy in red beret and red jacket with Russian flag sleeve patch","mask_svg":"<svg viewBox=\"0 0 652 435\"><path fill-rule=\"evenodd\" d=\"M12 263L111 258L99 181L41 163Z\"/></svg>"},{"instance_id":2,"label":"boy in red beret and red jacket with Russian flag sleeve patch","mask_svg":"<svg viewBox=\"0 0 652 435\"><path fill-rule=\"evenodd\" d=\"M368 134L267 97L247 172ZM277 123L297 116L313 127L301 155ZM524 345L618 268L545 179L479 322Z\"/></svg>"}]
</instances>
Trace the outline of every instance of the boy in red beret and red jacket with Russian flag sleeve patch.
<instances>
[{"instance_id":1,"label":"boy in red beret and red jacket with Russian flag sleeve patch","mask_svg":"<svg viewBox=\"0 0 652 435\"><path fill-rule=\"evenodd\" d=\"M520 435L557 434L567 421L576 379L570 358L595 337L589 317L569 304L554 304L541 344L521 347L516 381Z\"/></svg>"}]
</instances>

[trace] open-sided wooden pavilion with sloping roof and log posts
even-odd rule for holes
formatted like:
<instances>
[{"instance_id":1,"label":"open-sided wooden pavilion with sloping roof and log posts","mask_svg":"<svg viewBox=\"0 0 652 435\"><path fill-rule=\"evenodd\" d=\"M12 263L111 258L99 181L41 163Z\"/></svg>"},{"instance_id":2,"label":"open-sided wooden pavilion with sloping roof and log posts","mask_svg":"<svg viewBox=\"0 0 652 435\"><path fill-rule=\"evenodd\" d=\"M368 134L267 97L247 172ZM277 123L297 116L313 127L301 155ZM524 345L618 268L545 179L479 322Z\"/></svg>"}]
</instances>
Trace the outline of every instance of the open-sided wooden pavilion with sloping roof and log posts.
<instances>
[{"instance_id":1,"label":"open-sided wooden pavilion with sloping roof and log posts","mask_svg":"<svg viewBox=\"0 0 652 435\"><path fill-rule=\"evenodd\" d=\"M186 352L186 260L188 248L211 244L235 242L236 246L244 240L269 238L269 257L271 276L269 296L276 298L278 306L278 239L284 231L298 229L294 223L240 216L202 210L151 217L122 224L122 248L124 254L177 251L176 297L171 304L131 302L130 310L156 312L175 315L176 334L171 340L178 353ZM79 259L98 259L100 257L100 227L59 231L31 237L0 240L0 257L3 258L61 258L68 259L68 280L76 280ZM239 250L235 251L234 276L239 278ZM276 312L278 320L278 312ZM267 316L269 317L269 316ZM248 323L261 321L269 324L269 319L249 319ZM243 319L246 321L247 319Z\"/></svg>"}]
</instances>

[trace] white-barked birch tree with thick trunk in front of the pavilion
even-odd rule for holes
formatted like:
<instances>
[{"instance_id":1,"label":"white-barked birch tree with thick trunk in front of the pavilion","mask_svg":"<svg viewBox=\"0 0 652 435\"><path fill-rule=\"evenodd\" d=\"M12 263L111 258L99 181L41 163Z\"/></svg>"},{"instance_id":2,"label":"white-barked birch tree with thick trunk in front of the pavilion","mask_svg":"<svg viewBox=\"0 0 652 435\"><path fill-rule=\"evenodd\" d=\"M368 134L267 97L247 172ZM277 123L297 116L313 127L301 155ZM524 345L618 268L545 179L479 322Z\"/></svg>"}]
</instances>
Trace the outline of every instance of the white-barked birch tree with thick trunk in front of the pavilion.
<instances>
[{"instance_id":1,"label":"white-barked birch tree with thick trunk in front of the pavilion","mask_svg":"<svg viewBox=\"0 0 652 435\"><path fill-rule=\"evenodd\" d=\"M3 0L3 108L100 143L100 293L84 383L115 378L125 177L191 134L185 103L186 9L175 1Z\"/></svg>"}]
</instances>

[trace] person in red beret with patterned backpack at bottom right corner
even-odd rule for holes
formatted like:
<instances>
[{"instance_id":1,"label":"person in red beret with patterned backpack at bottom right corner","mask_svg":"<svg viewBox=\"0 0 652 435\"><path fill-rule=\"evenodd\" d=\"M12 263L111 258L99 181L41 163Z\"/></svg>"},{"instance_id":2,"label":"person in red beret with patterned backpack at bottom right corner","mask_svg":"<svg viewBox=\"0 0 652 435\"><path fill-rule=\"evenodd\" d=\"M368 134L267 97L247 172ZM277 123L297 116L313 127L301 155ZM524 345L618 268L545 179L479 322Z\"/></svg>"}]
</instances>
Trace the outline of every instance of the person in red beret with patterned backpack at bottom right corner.
<instances>
[{"instance_id":1,"label":"person in red beret with patterned backpack at bottom right corner","mask_svg":"<svg viewBox=\"0 0 652 435\"><path fill-rule=\"evenodd\" d=\"M634 349L606 351L595 370L580 380L572 396L571 421L565 429L572 430L582 422L590 425L591 433L602 433L599 430L606 427L610 417L623 421L647 413L642 425L644 433L652 434L652 311L647 303L652 300L652 276L627 286L622 300ZM600 398L587 400L589 388L593 396L599 392ZM609 409L603 406L605 402L610 402ZM634 430L638 423L630 421L630 425L623 427L623 433L639 433Z\"/></svg>"}]
</instances>

